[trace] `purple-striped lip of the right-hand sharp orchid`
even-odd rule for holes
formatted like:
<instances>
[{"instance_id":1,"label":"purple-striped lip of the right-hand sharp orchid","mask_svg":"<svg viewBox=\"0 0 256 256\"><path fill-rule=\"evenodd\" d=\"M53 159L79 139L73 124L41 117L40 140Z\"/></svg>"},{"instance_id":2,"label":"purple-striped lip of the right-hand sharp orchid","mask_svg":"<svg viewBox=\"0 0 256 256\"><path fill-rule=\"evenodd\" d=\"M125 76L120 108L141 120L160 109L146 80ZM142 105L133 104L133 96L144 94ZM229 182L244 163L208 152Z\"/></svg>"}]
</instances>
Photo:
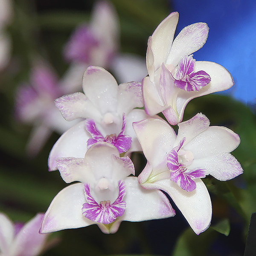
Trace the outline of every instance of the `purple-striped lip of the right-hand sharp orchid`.
<instances>
[{"instance_id":1,"label":"purple-striped lip of the right-hand sharp orchid","mask_svg":"<svg viewBox=\"0 0 256 256\"><path fill-rule=\"evenodd\" d=\"M187 192L191 192L196 189L196 183L194 179L204 178L206 172L204 169L196 168L188 170L186 165L179 163L178 152L183 146L186 137L184 137L177 147L173 148L167 157L167 167L170 170L170 180L177 183L182 189Z\"/></svg>"}]
</instances>

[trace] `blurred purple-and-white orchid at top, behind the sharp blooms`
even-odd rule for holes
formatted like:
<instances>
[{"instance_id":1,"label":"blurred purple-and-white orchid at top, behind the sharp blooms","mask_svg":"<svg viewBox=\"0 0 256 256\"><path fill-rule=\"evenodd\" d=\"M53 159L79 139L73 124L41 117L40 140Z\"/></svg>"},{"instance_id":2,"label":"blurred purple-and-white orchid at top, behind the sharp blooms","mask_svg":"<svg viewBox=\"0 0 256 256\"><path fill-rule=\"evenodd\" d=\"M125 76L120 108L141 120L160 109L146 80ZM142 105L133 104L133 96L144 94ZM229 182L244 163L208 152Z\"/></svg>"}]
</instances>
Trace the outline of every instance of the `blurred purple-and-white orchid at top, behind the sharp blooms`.
<instances>
[{"instance_id":1,"label":"blurred purple-and-white orchid at top, behind the sharp blooms","mask_svg":"<svg viewBox=\"0 0 256 256\"><path fill-rule=\"evenodd\" d=\"M65 93L81 88L81 78L89 65L113 70L120 82L141 81L147 74L145 59L135 54L121 54L119 19L108 1L97 1L90 23L80 25L64 47L70 67L61 84Z\"/></svg>"}]
</instances>

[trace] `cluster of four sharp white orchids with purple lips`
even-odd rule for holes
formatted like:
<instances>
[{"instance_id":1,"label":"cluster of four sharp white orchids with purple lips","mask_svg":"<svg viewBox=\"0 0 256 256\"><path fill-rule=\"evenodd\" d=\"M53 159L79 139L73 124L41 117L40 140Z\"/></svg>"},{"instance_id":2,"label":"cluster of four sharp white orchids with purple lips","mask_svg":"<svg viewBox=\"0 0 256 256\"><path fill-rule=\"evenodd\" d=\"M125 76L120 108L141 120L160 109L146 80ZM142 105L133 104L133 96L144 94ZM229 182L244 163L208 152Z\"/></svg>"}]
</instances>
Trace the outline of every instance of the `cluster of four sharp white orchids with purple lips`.
<instances>
[{"instance_id":1,"label":"cluster of four sharp white orchids with purple lips","mask_svg":"<svg viewBox=\"0 0 256 256\"><path fill-rule=\"evenodd\" d=\"M181 122L187 103L233 85L220 65L195 61L192 53L207 40L208 27L195 23L174 33L173 12L148 39L148 75L142 83L117 84L102 67L84 73L84 93L55 100L62 116L83 119L66 131L49 155L49 170L59 170L66 183L41 225L41 233L97 224L104 233L121 221L144 221L175 215L166 192L199 234L212 217L206 175L230 180L243 170L230 152L240 143L228 128L209 126L198 113ZM143 105L145 110L143 109ZM157 113L162 112L167 121ZM178 125L176 134L170 125ZM129 158L143 151L147 164L139 177Z\"/></svg>"}]
</instances>

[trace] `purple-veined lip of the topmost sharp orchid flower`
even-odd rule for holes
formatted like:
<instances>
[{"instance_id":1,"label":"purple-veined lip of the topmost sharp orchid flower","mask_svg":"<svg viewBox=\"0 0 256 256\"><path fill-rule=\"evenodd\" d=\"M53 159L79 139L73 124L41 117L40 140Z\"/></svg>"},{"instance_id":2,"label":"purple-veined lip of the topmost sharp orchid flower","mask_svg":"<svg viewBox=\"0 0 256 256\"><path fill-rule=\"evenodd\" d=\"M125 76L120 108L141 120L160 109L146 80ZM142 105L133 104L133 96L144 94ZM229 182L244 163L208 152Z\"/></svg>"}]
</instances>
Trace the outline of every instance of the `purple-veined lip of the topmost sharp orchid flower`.
<instances>
[{"instance_id":1,"label":"purple-veined lip of the topmost sharp orchid flower","mask_svg":"<svg viewBox=\"0 0 256 256\"><path fill-rule=\"evenodd\" d=\"M194 73L195 59L192 56L189 55L179 62L174 81L176 87L187 92L198 91L211 81L209 74L204 70Z\"/></svg>"}]
</instances>

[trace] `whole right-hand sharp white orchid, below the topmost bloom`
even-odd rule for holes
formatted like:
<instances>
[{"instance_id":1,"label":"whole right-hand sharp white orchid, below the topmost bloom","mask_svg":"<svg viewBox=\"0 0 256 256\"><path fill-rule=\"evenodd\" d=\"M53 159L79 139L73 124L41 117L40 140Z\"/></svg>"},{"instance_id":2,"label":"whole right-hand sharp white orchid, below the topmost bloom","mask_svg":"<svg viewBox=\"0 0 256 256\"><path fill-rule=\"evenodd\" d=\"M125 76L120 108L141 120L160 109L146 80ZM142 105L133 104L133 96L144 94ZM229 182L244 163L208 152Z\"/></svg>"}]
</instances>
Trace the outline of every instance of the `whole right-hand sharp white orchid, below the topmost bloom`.
<instances>
[{"instance_id":1,"label":"whole right-hand sharp white orchid, below the topmost bloom","mask_svg":"<svg viewBox=\"0 0 256 256\"><path fill-rule=\"evenodd\" d=\"M178 124L177 135L162 119L134 123L148 162L138 181L145 189L168 193L189 225L199 234L209 227L212 205L201 178L230 180L243 170L230 152L240 143L228 128L209 126L201 113Z\"/></svg>"}]
</instances>

